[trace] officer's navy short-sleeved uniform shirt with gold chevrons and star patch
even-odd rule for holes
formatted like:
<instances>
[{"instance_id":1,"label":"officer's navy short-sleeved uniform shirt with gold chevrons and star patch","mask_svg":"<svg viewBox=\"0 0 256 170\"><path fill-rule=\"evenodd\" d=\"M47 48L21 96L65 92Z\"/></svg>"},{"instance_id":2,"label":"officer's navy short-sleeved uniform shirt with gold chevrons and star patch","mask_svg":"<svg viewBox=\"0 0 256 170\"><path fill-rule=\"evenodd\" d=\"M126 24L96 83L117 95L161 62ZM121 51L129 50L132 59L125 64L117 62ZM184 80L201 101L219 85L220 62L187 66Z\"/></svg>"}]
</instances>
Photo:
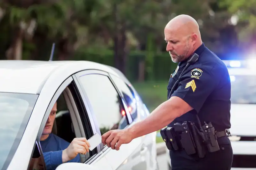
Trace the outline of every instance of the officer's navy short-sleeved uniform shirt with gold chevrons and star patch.
<instances>
[{"instance_id":1,"label":"officer's navy short-sleeved uniform shirt with gold chevrons and star patch","mask_svg":"<svg viewBox=\"0 0 256 170\"><path fill-rule=\"evenodd\" d=\"M231 83L227 66L204 43L195 53L199 55L198 60L182 73L179 84L171 95L180 97L194 109L175 121L197 123L195 114L198 114L202 125L204 122L212 122L217 131L229 129ZM186 64L187 60L180 62L170 78L167 98ZM168 127L172 127L173 123Z\"/></svg>"}]
</instances>

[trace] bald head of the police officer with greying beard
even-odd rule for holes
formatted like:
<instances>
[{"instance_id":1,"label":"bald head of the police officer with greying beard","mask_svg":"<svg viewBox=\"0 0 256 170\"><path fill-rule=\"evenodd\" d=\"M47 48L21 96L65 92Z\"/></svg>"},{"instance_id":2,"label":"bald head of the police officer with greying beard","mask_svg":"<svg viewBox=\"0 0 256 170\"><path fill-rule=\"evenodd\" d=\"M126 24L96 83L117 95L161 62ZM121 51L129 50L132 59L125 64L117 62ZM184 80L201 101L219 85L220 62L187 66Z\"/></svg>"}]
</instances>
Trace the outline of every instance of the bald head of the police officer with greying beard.
<instances>
[{"instance_id":1,"label":"bald head of the police officer with greying beard","mask_svg":"<svg viewBox=\"0 0 256 170\"><path fill-rule=\"evenodd\" d=\"M166 51L173 62L187 59L201 44L201 35L196 20L188 15L173 18L164 28Z\"/></svg>"}]
</instances>

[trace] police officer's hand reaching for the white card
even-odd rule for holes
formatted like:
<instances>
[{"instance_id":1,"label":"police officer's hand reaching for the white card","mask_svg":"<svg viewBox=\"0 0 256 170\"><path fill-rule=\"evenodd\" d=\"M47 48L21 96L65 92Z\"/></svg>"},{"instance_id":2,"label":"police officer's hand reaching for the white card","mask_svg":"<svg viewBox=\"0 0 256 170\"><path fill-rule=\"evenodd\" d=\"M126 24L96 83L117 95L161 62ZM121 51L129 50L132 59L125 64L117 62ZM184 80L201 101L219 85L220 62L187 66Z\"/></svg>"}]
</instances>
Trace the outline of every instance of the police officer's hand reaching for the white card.
<instances>
[{"instance_id":1,"label":"police officer's hand reaching for the white card","mask_svg":"<svg viewBox=\"0 0 256 170\"><path fill-rule=\"evenodd\" d=\"M126 129L110 130L102 135L101 142L118 151L122 144L129 144L132 139L132 134Z\"/></svg>"}]
</instances>

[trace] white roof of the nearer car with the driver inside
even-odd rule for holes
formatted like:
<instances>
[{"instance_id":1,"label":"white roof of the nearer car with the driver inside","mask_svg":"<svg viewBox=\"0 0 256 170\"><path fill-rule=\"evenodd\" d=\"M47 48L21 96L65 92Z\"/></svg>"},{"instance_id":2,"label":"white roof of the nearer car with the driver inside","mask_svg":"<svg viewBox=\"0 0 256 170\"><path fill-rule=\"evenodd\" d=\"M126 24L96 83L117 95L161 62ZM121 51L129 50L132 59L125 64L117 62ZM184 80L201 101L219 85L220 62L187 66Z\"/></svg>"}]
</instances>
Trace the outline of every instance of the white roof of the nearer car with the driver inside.
<instances>
[{"instance_id":1,"label":"white roof of the nearer car with the driver inside","mask_svg":"<svg viewBox=\"0 0 256 170\"><path fill-rule=\"evenodd\" d=\"M58 75L65 73L68 78L88 69L106 71L119 77L114 69L91 61L1 60L0 92L39 94L50 77L59 78Z\"/></svg>"}]
</instances>

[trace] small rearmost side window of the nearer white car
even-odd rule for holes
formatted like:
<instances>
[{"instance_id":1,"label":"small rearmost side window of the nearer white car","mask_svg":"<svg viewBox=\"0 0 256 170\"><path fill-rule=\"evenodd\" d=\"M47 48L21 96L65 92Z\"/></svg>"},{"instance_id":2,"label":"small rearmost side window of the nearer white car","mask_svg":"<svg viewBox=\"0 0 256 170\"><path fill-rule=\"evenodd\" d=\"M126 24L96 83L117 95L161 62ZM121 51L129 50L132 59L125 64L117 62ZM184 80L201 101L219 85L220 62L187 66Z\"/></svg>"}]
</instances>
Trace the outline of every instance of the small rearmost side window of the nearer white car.
<instances>
[{"instance_id":1,"label":"small rearmost side window of the nearer white car","mask_svg":"<svg viewBox=\"0 0 256 170\"><path fill-rule=\"evenodd\" d=\"M127 85L121 78L118 78L114 75L111 75L115 85L117 86L118 90L122 93L123 98L126 102L128 110L132 116L132 120L137 118L137 106L136 106L136 99L134 92L130 85Z\"/></svg>"}]
</instances>

